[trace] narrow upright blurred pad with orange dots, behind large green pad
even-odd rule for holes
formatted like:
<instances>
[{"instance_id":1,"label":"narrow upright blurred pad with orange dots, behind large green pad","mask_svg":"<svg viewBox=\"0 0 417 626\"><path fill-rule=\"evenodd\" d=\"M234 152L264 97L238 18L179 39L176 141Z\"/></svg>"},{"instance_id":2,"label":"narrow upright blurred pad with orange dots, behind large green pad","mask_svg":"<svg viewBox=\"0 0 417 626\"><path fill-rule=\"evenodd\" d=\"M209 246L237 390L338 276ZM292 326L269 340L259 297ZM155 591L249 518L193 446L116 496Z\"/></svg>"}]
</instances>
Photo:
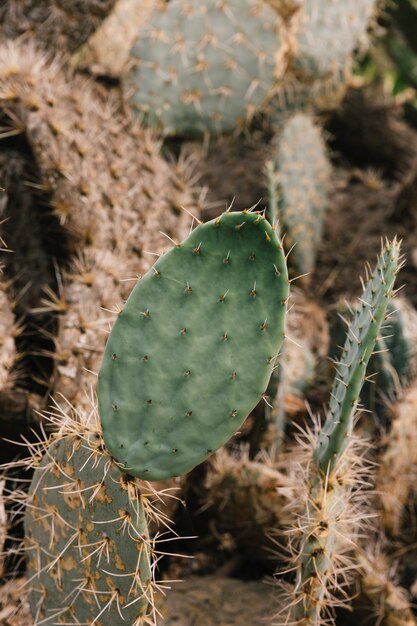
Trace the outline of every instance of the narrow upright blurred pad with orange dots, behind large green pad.
<instances>
[{"instance_id":1,"label":"narrow upright blurred pad with orange dots, behind large green pad","mask_svg":"<svg viewBox=\"0 0 417 626\"><path fill-rule=\"evenodd\" d=\"M294 115L279 136L278 218L288 246L296 244L290 260L297 273L314 269L327 208L330 164L319 129L308 115Z\"/></svg>"}]
</instances>

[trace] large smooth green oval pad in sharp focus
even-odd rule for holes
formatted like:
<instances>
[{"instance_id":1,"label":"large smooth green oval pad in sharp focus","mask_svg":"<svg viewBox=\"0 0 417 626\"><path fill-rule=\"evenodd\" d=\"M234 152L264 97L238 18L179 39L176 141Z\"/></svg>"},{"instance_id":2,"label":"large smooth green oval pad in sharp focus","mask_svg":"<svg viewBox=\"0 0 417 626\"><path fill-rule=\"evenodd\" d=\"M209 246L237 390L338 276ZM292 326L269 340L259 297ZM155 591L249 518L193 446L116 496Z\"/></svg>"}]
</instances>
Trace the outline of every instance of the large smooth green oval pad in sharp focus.
<instances>
[{"instance_id":1,"label":"large smooth green oval pad in sharp focus","mask_svg":"<svg viewBox=\"0 0 417 626\"><path fill-rule=\"evenodd\" d=\"M236 432L268 385L287 298L282 247L257 213L224 213L156 262L99 373L103 437L129 473L183 474Z\"/></svg>"}]
</instances>

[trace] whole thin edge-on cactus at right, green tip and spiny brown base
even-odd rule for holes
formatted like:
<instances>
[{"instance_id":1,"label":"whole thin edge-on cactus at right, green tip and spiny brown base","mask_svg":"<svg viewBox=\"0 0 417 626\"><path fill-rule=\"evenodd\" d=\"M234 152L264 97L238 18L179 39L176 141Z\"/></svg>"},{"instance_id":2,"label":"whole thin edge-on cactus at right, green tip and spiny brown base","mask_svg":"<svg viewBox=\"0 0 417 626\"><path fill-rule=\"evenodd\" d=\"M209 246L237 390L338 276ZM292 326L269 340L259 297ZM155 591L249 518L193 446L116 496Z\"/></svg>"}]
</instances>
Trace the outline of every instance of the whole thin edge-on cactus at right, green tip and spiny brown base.
<instances>
[{"instance_id":1,"label":"whole thin edge-on cactus at right, green tip and spiny brown base","mask_svg":"<svg viewBox=\"0 0 417 626\"><path fill-rule=\"evenodd\" d=\"M337 605L335 590L352 567L352 546L367 517L353 418L399 267L399 244L394 240L378 257L349 326L324 426L306 443L308 455L296 486L303 502L301 508L297 504L299 532L290 546L296 584L289 592L290 617L284 616L285 623L321 624L323 615Z\"/></svg>"}]
</instances>

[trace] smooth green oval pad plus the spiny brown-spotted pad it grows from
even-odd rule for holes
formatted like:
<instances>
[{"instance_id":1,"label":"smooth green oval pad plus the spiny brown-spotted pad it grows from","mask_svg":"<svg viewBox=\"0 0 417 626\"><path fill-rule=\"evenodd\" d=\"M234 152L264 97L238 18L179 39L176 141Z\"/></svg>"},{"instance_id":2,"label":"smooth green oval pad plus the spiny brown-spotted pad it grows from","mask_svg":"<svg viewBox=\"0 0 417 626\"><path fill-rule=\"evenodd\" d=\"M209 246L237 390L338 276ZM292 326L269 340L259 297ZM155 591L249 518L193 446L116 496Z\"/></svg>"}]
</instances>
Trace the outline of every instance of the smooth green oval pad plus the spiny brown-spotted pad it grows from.
<instances>
[{"instance_id":1,"label":"smooth green oval pad plus the spiny brown-spotted pad it grows from","mask_svg":"<svg viewBox=\"0 0 417 626\"><path fill-rule=\"evenodd\" d=\"M52 439L33 446L25 547L36 624L155 620L147 494L154 490L134 476L155 481L188 471L235 432L266 390L284 339L287 297L282 246L266 219L249 211L198 226L139 281L100 371L104 440L98 423L70 414ZM204 313L216 320L218 307L211 330ZM209 384L206 363L224 346ZM177 353L179 374L165 370L164 350ZM251 351L256 378L237 367L235 351L242 350Z\"/></svg>"}]
</instances>

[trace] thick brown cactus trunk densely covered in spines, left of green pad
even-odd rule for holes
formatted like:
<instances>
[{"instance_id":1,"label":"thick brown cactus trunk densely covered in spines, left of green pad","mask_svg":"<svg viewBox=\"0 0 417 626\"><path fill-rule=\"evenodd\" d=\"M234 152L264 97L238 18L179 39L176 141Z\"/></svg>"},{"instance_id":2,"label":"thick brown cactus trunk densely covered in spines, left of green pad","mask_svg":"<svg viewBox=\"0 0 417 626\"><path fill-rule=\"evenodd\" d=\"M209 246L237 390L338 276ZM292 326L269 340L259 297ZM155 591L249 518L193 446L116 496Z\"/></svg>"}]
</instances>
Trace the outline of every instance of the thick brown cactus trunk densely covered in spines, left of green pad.
<instances>
[{"instance_id":1,"label":"thick brown cactus trunk densely covered in spines, left of green pad","mask_svg":"<svg viewBox=\"0 0 417 626\"><path fill-rule=\"evenodd\" d=\"M110 103L103 105L91 83L68 76L61 63L48 61L30 42L1 45L0 68L1 115L33 151L39 187L48 195L60 224L59 241L70 257L64 287L56 296L45 295L39 271L34 273L42 259L41 233L33 235L37 254L24 267L19 291L27 294L30 280L40 293L30 307L40 307L42 299L43 312L59 313L53 395L62 394L87 416L108 324L131 288L125 279L147 271L154 257L145 251L161 253L170 245L160 224L171 238L186 235L189 216L180 207L195 210L195 204L182 172L164 161L150 133L129 124ZM13 181L26 188L21 181L29 176L18 171ZM1 186L9 190L9 181L2 178ZM12 200L6 226L18 217ZM20 255L10 256L18 266ZM56 265L48 262L54 278Z\"/></svg>"}]
</instances>

